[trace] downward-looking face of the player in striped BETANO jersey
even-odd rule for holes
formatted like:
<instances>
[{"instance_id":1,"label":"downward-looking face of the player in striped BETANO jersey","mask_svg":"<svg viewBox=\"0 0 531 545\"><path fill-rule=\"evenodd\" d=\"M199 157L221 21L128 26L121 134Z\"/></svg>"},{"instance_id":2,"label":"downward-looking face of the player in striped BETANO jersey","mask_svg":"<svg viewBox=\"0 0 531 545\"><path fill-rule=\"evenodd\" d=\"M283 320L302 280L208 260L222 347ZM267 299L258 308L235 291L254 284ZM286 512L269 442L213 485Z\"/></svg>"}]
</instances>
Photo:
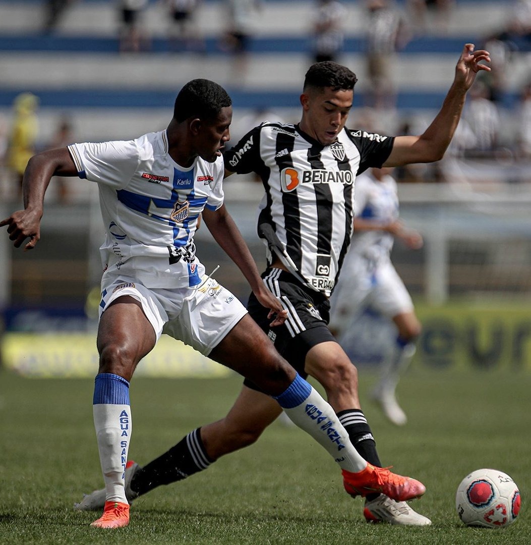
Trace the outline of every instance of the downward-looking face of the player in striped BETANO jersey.
<instances>
[{"instance_id":1,"label":"downward-looking face of the player in striped BETANO jersey","mask_svg":"<svg viewBox=\"0 0 531 545\"><path fill-rule=\"evenodd\" d=\"M301 129L324 146L332 144L349 117L353 95L352 89L309 89L301 95Z\"/></svg>"}]
</instances>

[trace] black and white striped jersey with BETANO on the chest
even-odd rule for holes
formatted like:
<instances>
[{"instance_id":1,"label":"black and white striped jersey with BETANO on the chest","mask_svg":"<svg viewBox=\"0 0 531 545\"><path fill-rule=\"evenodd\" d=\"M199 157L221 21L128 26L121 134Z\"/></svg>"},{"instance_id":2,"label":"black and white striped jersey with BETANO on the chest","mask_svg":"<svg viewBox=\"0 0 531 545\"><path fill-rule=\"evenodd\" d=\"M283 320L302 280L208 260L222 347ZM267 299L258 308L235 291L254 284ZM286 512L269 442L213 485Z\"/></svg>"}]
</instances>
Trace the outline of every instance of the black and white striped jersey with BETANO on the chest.
<instances>
[{"instance_id":1,"label":"black and white striped jersey with BETANO on the chest","mask_svg":"<svg viewBox=\"0 0 531 545\"><path fill-rule=\"evenodd\" d=\"M225 152L227 170L263 181L258 235L268 262L276 253L304 284L330 295L352 236L356 174L381 167L393 142L344 129L323 146L298 125L265 122Z\"/></svg>"}]
</instances>

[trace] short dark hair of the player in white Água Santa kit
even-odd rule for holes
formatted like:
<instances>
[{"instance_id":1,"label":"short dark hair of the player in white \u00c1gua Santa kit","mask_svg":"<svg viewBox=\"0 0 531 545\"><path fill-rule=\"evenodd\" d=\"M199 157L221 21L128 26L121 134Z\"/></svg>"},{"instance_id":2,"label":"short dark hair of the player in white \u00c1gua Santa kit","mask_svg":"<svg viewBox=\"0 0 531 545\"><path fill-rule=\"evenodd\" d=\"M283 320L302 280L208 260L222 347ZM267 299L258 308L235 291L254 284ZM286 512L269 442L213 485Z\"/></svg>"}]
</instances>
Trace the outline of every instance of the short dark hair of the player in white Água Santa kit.
<instances>
[{"instance_id":1,"label":"short dark hair of the player in white \u00c1gua Santa kit","mask_svg":"<svg viewBox=\"0 0 531 545\"><path fill-rule=\"evenodd\" d=\"M190 117L216 119L222 108L233 101L221 85L210 80L189 81L177 95L173 117L179 123Z\"/></svg>"}]
</instances>

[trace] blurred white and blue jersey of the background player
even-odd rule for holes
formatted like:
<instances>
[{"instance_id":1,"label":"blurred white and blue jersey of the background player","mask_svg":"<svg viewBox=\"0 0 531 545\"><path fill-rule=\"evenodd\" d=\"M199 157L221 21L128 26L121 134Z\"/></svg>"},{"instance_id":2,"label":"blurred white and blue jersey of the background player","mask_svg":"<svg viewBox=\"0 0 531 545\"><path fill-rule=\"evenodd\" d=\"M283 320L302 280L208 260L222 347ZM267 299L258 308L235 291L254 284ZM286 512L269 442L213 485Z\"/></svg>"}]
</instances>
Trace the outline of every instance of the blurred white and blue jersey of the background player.
<instances>
[{"instance_id":1,"label":"blurred white and blue jersey of the background player","mask_svg":"<svg viewBox=\"0 0 531 545\"><path fill-rule=\"evenodd\" d=\"M399 204L395 179L389 174L377 180L370 172L356 178L355 216L386 225L398 220ZM374 265L389 261L394 236L387 231L354 230L346 259L362 258Z\"/></svg>"}]
</instances>

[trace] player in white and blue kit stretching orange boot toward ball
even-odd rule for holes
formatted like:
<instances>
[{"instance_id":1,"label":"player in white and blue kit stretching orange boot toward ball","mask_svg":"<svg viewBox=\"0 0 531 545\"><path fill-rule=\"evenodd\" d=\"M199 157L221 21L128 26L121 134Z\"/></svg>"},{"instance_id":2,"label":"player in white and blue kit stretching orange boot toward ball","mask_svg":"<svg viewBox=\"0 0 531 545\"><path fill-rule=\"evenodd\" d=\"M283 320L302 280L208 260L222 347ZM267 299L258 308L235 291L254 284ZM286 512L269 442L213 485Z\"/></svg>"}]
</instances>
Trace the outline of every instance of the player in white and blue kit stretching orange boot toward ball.
<instances>
[{"instance_id":1,"label":"player in white and blue kit stretching orange boot toward ball","mask_svg":"<svg viewBox=\"0 0 531 545\"><path fill-rule=\"evenodd\" d=\"M129 383L163 332L272 396L333 456L345 483L357 493L376 488L407 499L425 492L422 483L367 463L332 407L278 354L241 302L205 275L193 242L199 214L267 307L271 326L284 322L282 305L261 281L223 204L221 151L231 119L227 92L217 83L192 80L179 92L164 131L127 142L72 144L33 156L23 179L24 210L0 222L8 226L15 247L29 238L25 249L32 249L40 238L44 195L53 175L77 175L98 185L106 237L93 414L105 502L102 516L92 523L96 528L129 524L124 488L132 431ZM207 428L190 434L194 455L196 445L212 441ZM199 453L197 463L204 465L208 456L209 451L205 457Z\"/></svg>"}]
</instances>

